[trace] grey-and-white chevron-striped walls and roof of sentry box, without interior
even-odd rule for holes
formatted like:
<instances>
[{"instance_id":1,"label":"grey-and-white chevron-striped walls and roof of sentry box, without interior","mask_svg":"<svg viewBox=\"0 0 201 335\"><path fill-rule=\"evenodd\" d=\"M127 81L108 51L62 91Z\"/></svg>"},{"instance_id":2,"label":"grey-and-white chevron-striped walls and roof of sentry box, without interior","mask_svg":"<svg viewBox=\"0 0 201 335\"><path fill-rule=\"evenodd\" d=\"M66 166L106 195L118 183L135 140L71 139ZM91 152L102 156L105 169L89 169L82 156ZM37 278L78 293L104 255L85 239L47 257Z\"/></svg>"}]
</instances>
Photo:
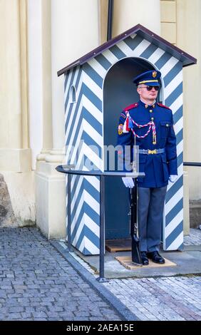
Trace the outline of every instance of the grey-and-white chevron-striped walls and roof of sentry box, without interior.
<instances>
[{"instance_id":1,"label":"grey-and-white chevron-striped walls and roof of sentry box, without interior","mask_svg":"<svg viewBox=\"0 0 201 335\"><path fill-rule=\"evenodd\" d=\"M177 181L168 186L163 247L180 249L183 243L182 67L196 63L195 58L138 24L58 71L58 76L65 75L66 164L75 164L76 170L88 170L88 160L103 170L104 80L108 71L125 58L135 58L136 62L144 60L162 73L160 100L174 115L179 175ZM73 246L83 254L98 254L98 178L73 176L71 200ZM66 197L66 205L67 202Z\"/></svg>"}]
</instances>

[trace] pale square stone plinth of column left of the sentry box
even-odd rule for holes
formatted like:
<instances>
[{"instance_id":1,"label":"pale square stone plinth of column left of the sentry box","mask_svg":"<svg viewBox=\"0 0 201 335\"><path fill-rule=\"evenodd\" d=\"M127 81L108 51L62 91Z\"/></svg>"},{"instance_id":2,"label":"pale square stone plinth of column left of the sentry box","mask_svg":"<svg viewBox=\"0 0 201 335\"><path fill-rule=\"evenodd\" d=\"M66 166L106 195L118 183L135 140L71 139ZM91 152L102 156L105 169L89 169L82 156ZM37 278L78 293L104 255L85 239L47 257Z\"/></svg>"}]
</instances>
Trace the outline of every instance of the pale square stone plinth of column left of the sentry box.
<instances>
[{"instance_id":1,"label":"pale square stone plinth of column left of the sentry box","mask_svg":"<svg viewBox=\"0 0 201 335\"><path fill-rule=\"evenodd\" d=\"M36 171L36 225L48 239L66 238L66 183L57 165L38 161Z\"/></svg>"}]
</instances>

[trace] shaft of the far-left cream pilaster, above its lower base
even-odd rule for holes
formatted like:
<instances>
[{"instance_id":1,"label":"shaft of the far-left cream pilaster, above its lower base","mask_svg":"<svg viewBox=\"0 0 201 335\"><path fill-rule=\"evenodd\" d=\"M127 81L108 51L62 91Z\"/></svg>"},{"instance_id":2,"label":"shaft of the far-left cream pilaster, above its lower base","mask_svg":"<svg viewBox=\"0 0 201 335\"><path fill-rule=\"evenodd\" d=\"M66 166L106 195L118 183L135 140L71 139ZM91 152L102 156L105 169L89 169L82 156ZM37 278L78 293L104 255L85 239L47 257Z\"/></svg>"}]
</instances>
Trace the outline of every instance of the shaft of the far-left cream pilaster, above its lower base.
<instances>
[{"instance_id":1,"label":"shaft of the far-left cream pilaster, above its lower base","mask_svg":"<svg viewBox=\"0 0 201 335\"><path fill-rule=\"evenodd\" d=\"M26 4L0 2L0 170L31 168L26 86Z\"/></svg>"}]
</instances>

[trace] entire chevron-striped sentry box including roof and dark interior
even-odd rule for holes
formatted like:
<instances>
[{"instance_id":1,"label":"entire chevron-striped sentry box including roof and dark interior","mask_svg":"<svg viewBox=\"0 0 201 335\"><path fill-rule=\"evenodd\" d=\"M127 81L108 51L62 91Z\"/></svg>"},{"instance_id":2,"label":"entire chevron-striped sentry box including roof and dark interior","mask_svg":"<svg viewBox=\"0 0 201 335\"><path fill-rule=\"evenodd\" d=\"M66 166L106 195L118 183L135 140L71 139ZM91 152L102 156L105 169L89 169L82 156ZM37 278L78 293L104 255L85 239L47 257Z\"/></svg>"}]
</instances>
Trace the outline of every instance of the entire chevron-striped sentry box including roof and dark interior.
<instances>
[{"instance_id":1,"label":"entire chevron-striped sentry box including roof and dark interior","mask_svg":"<svg viewBox=\"0 0 201 335\"><path fill-rule=\"evenodd\" d=\"M165 250L181 249L183 242L182 67L194 63L195 58L138 24L58 71L58 76L65 75L66 164L75 165L76 170L102 171L104 145L115 145L121 110L138 100L131 79L154 68L162 73L159 99L174 115L179 174L165 200ZM128 237L127 192L116 178L105 185L105 238ZM73 176L71 199L72 244L83 254L98 254L98 178Z\"/></svg>"}]
</instances>

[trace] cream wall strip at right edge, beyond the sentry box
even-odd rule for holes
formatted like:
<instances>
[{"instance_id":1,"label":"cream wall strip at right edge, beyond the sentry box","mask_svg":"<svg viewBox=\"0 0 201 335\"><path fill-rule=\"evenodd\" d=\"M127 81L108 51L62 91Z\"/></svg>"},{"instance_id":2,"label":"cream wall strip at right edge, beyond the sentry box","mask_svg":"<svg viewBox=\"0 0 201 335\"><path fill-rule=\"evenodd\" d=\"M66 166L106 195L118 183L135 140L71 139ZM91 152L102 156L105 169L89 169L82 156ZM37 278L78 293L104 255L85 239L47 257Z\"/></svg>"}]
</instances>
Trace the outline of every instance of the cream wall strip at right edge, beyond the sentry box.
<instances>
[{"instance_id":1,"label":"cream wall strip at right edge, beyond the sentry box","mask_svg":"<svg viewBox=\"0 0 201 335\"><path fill-rule=\"evenodd\" d=\"M193 4L193 6L192 6ZM184 161L201 162L201 1L177 0L177 46L197 58L197 65L183 69ZM186 168L190 200L201 199L201 168Z\"/></svg>"}]
</instances>

